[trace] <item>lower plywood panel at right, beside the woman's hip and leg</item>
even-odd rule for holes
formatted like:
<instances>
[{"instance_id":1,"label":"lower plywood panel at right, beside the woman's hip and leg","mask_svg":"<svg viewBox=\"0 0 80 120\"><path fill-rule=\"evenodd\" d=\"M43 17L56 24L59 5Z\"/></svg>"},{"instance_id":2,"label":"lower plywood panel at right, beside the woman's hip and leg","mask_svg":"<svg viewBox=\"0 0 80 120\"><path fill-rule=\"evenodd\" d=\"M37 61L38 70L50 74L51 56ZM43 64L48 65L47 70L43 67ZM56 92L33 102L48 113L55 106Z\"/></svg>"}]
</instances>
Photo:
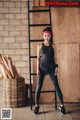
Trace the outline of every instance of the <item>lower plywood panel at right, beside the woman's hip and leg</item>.
<instances>
[{"instance_id":1,"label":"lower plywood panel at right, beside the woman's hip and leg","mask_svg":"<svg viewBox=\"0 0 80 120\"><path fill-rule=\"evenodd\" d=\"M60 44L60 86L66 102L79 100L79 44Z\"/></svg>"}]
</instances>

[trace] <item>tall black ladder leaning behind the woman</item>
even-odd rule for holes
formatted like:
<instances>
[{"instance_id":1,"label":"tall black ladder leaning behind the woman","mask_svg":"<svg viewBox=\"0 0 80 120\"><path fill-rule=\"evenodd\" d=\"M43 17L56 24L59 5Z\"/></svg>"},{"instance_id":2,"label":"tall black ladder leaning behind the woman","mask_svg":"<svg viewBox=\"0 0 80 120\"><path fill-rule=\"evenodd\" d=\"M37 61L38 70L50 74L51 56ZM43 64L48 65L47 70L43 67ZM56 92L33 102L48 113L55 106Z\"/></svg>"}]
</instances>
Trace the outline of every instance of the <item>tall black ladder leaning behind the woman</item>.
<instances>
[{"instance_id":1,"label":"tall black ladder leaning behind the woman","mask_svg":"<svg viewBox=\"0 0 80 120\"><path fill-rule=\"evenodd\" d=\"M30 13L33 12L48 12L49 13L49 18L50 18L50 23L49 24L31 24L30 23ZM30 35L30 28L31 27L41 27L41 26L50 26L52 28L52 22L51 22L51 7L48 7L48 9L40 9L40 10L30 10L30 1L28 0L28 38L29 38L29 77L30 77L30 106L32 110L32 94L35 93L35 91L32 91L32 80L31 76L37 75L36 73L31 73L31 60L34 58L37 58L37 56L31 56L31 42L42 42L42 39L34 39L31 40L31 35ZM50 93L53 92L55 95L55 109L57 109L57 96L55 90L47 90L47 91L41 91L41 93Z\"/></svg>"}]
</instances>

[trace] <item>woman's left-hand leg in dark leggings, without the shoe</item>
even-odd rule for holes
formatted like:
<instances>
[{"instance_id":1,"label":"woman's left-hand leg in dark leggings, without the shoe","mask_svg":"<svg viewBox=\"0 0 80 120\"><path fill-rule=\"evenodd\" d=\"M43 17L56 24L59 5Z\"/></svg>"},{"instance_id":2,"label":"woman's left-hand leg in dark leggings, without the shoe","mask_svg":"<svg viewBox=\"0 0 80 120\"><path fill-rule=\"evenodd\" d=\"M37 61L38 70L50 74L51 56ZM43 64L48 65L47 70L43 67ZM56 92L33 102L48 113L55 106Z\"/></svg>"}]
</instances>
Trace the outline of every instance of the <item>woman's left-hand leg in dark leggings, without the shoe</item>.
<instances>
[{"instance_id":1,"label":"woman's left-hand leg in dark leggings, without the shoe","mask_svg":"<svg viewBox=\"0 0 80 120\"><path fill-rule=\"evenodd\" d=\"M40 76L38 77L38 83L37 83L37 88L35 91L35 105L39 105L39 98L40 98L40 91L42 89L43 81L44 81L45 74L41 73Z\"/></svg>"}]
</instances>

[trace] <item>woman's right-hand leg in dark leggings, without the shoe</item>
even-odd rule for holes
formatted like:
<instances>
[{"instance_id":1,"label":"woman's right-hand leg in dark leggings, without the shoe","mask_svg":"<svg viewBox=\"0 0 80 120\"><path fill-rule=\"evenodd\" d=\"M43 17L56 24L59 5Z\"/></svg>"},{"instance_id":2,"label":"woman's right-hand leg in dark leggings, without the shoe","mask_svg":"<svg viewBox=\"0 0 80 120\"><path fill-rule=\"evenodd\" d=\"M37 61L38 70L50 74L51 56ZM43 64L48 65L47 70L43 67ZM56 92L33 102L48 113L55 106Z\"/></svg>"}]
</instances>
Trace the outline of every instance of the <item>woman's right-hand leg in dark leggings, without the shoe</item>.
<instances>
[{"instance_id":1,"label":"woman's right-hand leg in dark leggings, without the shoe","mask_svg":"<svg viewBox=\"0 0 80 120\"><path fill-rule=\"evenodd\" d=\"M60 89L59 84L58 84L57 75L54 75L53 72L50 72L49 75L50 75L50 78L54 84L55 91L59 97L60 104L63 105L63 96L62 96L62 92L61 92L61 89Z\"/></svg>"}]
</instances>

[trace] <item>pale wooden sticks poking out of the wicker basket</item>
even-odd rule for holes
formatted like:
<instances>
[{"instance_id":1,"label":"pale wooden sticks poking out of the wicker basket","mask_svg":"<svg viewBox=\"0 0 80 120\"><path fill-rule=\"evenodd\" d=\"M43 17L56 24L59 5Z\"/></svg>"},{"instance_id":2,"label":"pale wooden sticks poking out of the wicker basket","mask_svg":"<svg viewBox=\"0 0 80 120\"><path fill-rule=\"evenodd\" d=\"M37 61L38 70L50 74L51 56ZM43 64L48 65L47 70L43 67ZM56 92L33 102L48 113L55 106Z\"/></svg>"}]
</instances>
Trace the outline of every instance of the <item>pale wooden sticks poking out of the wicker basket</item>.
<instances>
[{"instance_id":1,"label":"pale wooden sticks poking out of the wicker basket","mask_svg":"<svg viewBox=\"0 0 80 120\"><path fill-rule=\"evenodd\" d=\"M0 54L0 69L2 73L0 79L14 79L15 77L19 77L19 73L13 65L11 57Z\"/></svg>"}]
</instances>

